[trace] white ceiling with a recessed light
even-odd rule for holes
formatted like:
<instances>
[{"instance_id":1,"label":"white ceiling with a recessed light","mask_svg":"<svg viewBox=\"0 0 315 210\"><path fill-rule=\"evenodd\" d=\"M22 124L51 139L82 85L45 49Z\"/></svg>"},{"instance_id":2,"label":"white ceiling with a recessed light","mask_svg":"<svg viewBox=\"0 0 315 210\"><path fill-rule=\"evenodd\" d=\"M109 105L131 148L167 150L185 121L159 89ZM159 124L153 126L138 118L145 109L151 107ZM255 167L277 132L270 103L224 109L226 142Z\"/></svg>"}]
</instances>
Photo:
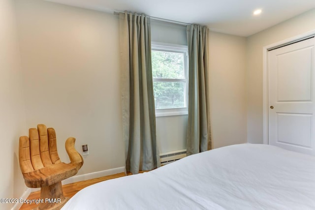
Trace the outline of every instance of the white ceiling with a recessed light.
<instances>
[{"instance_id":1,"label":"white ceiling with a recessed light","mask_svg":"<svg viewBox=\"0 0 315 210\"><path fill-rule=\"evenodd\" d=\"M105 12L131 11L249 36L315 8L315 0L48 0ZM262 9L253 16L255 9Z\"/></svg>"}]
</instances>

